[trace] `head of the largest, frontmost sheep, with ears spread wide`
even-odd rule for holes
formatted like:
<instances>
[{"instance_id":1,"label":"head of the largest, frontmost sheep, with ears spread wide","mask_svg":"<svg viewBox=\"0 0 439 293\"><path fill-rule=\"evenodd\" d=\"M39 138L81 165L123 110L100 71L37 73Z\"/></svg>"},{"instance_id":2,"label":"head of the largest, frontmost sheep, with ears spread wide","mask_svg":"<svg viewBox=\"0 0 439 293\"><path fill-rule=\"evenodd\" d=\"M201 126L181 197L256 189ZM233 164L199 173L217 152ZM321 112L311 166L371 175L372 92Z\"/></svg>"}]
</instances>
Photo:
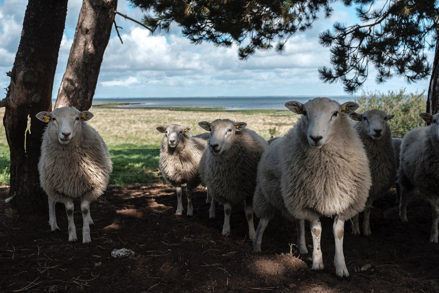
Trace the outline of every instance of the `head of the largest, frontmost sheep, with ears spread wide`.
<instances>
[{"instance_id":1,"label":"head of the largest, frontmost sheep, with ears spread wide","mask_svg":"<svg viewBox=\"0 0 439 293\"><path fill-rule=\"evenodd\" d=\"M328 98L314 98L305 104L289 101L285 106L292 112L302 114L303 132L312 148L321 148L329 142L335 135L334 125L359 107L354 102L340 105L337 101Z\"/></svg>"}]
</instances>

